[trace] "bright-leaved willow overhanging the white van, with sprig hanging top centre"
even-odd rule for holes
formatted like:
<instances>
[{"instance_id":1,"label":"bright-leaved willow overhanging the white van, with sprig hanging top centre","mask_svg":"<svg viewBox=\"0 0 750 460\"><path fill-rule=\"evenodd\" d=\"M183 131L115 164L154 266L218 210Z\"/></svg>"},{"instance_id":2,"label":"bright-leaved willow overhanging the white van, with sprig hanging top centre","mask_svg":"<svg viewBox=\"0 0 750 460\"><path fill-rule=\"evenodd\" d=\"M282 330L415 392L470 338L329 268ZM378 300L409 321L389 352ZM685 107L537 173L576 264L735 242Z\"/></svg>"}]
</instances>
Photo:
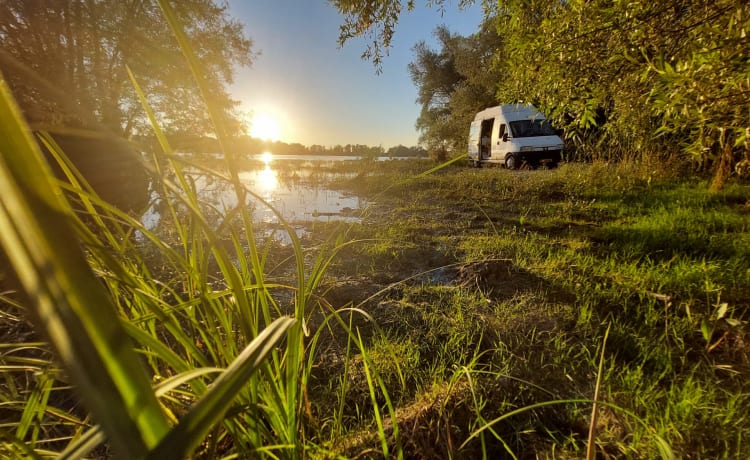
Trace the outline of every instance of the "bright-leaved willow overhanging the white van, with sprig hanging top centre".
<instances>
[{"instance_id":1,"label":"bright-leaved willow overhanging the white van, with sprig hanging top centre","mask_svg":"<svg viewBox=\"0 0 750 460\"><path fill-rule=\"evenodd\" d=\"M337 0L340 41L385 54L414 1ZM425 1L444 7L444 0ZM470 1L460 2L465 6ZM532 102L588 156L677 159L719 189L750 169L750 4L745 0L499 0L497 99ZM672 157L674 158L674 157Z\"/></svg>"}]
</instances>

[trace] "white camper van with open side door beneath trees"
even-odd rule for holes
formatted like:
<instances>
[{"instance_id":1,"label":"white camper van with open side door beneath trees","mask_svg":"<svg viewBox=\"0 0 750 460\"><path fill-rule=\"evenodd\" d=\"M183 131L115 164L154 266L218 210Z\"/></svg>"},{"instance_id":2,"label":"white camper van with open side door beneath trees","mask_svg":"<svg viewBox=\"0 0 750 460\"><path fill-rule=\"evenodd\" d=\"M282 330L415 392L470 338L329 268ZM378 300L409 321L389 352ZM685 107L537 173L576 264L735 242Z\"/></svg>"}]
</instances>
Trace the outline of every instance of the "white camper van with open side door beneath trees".
<instances>
[{"instance_id":1,"label":"white camper van with open side door beneath trees","mask_svg":"<svg viewBox=\"0 0 750 460\"><path fill-rule=\"evenodd\" d=\"M563 141L533 105L506 104L482 110L469 129L469 162L508 169L555 167Z\"/></svg>"}]
</instances>

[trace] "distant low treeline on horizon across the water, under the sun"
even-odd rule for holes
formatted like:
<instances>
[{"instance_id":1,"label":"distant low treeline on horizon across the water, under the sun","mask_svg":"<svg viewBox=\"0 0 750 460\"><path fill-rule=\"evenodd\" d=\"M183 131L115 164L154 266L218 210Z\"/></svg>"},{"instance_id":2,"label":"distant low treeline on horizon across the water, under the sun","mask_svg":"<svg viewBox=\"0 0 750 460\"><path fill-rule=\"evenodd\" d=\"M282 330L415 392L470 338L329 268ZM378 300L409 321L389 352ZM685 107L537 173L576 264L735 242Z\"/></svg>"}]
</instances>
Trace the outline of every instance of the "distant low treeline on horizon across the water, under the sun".
<instances>
[{"instance_id":1,"label":"distant low treeline on horizon across the water, under the sun","mask_svg":"<svg viewBox=\"0 0 750 460\"><path fill-rule=\"evenodd\" d=\"M185 153L216 153L220 152L218 140L207 136L172 135L168 136L170 145L177 152ZM144 147L156 145L156 139L141 137L136 142ZM299 143L263 141L250 136L238 136L228 146L241 155L254 155L272 152L275 155L356 155L362 157L426 157L427 150L421 147L405 147L397 145L389 149L382 146L360 144L346 144L335 146L302 145Z\"/></svg>"}]
</instances>

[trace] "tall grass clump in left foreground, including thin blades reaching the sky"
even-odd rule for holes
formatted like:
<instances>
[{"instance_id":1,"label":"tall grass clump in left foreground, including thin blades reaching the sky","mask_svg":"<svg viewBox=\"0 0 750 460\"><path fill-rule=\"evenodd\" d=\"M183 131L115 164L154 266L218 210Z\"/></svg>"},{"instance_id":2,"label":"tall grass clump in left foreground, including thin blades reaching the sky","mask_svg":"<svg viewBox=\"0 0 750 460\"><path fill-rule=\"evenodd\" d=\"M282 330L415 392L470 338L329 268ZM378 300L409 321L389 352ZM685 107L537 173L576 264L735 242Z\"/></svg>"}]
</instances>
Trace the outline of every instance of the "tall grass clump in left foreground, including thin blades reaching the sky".
<instances>
[{"instance_id":1,"label":"tall grass clump in left foreground, including thin blades reaching the sky","mask_svg":"<svg viewBox=\"0 0 750 460\"><path fill-rule=\"evenodd\" d=\"M169 5L160 3L204 88L187 37ZM237 205L210 209L142 94L166 160L154 164L168 165L174 177L159 186L162 219L173 230L169 239L100 200L43 136L67 173L67 183L56 181L7 87L0 89L1 238L28 302L5 300L36 318L63 365L30 357L44 350L39 343L3 345L4 405L18 414L8 425L15 435L4 435L8 452L78 457L106 437L124 458L182 458L195 449L210 458L304 455L306 324L327 259L314 256L306 265L310 259L287 226L297 282L269 283L266 252L248 211L252 192L239 182L231 152L225 152L228 176L210 173L235 187ZM209 111L216 121L217 112ZM221 131L217 123L223 141ZM68 203L73 196L85 221ZM272 289L290 291L289 303L275 300ZM19 380L31 372L37 384L24 396L15 388L27 387ZM101 429L75 409L68 378Z\"/></svg>"}]
</instances>

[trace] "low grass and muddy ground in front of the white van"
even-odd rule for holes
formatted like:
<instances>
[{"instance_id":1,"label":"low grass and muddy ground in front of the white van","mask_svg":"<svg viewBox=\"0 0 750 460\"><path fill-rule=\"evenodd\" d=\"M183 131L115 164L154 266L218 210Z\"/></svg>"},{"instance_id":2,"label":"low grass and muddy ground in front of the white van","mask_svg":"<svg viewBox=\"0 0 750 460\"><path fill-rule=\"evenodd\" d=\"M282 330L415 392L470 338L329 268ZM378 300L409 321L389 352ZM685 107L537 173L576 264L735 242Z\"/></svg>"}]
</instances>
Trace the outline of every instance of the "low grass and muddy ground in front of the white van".
<instances>
[{"instance_id":1,"label":"low grass and muddy ground in front of the white van","mask_svg":"<svg viewBox=\"0 0 750 460\"><path fill-rule=\"evenodd\" d=\"M605 164L392 185L415 171L388 166L350 182L379 205L337 268L390 286L355 301L383 329L370 353L399 357L407 450L577 458L593 431L614 456L748 455L746 185Z\"/></svg>"}]
</instances>

